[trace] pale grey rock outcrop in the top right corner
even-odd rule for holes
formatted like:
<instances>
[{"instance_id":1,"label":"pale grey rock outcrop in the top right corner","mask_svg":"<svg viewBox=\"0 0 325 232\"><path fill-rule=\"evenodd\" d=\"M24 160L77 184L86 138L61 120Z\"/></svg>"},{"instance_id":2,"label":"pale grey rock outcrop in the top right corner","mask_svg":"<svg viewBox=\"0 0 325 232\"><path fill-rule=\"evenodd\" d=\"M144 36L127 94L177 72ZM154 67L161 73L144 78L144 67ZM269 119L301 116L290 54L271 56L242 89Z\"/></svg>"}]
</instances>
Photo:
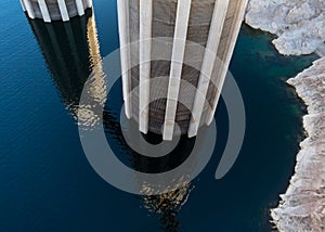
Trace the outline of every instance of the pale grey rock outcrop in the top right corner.
<instances>
[{"instance_id":1,"label":"pale grey rock outcrop in the top right corner","mask_svg":"<svg viewBox=\"0 0 325 232\"><path fill-rule=\"evenodd\" d=\"M324 0L250 0L246 23L277 35L282 54L325 53Z\"/></svg>"}]
</instances>

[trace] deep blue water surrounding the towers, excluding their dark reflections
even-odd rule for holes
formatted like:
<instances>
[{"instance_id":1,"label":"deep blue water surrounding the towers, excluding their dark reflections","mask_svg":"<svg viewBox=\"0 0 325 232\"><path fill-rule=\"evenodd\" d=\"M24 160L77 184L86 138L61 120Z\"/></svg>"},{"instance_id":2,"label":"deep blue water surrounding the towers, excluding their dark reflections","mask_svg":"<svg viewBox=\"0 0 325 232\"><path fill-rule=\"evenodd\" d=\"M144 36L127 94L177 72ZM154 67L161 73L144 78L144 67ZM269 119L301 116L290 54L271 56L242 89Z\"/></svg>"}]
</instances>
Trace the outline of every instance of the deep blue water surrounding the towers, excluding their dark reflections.
<instances>
[{"instance_id":1,"label":"deep blue water surrounding the towers, excluding their dark reflections","mask_svg":"<svg viewBox=\"0 0 325 232\"><path fill-rule=\"evenodd\" d=\"M247 131L235 166L213 179L227 133L221 101L212 160L173 194L187 198L140 197L103 181L80 145L75 108L95 56L88 48L91 13L69 26L49 26L29 22L18 1L2 0L0 9L0 231L272 230L269 210L287 188L303 136L304 107L285 80L314 56L281 56L269 35L243 26L231 70L244 96ZM94 12L105 56L118 48L116 3L94 0ZM120 105L117 83L108 94L105 129L128 160Z\"/></svg>"}]
</instances>

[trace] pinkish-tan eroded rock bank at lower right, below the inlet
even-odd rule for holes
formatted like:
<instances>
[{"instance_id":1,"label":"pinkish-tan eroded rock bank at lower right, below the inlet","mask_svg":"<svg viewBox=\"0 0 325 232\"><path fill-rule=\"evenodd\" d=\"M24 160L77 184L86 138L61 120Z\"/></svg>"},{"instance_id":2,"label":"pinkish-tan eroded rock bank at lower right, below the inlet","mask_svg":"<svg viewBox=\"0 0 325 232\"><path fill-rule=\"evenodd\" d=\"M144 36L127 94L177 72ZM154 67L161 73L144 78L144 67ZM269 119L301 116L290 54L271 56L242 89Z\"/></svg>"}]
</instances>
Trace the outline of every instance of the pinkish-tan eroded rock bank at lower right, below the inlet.
<instances>
[{"instance_id":1,"label":"pinkish-tan eroded rock bank at lower right, below the inlet","mask_svg":"<svg viewBox=\"0 0 325 232\"><path fill-rule=\"evenodd\" d=\"M288 80L308 105L308 138L300 144L296 173L272 209L280 231L325 231L325 57Z\"/></svg>"}]
</instances>

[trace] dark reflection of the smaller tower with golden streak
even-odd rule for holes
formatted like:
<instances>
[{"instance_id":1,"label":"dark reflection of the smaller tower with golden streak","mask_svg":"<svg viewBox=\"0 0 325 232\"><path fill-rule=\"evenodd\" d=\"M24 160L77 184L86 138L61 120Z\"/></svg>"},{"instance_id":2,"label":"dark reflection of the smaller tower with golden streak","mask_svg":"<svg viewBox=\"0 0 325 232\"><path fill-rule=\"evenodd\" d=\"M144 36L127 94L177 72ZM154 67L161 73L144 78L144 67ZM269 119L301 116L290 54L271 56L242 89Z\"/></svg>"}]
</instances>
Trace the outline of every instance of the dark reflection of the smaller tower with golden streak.
<instances>
[{"instance_id":1,"label":"dark reflection of the smaller tower with golden streak","mask_svg":"<svg viewBox=\"0 0 325 232\"><path fill-rule=\"evenodd\" d=\"M106 96L103 72L99 65L100 46L92 10L86 11L84 16L74 17L66 23L47 24L38 20L30 20L29 23L58 93L75 117L83 85L91 72L95 73L98 80L98 92L92 94L102 99Z\"/></svg>"}]
</instances>

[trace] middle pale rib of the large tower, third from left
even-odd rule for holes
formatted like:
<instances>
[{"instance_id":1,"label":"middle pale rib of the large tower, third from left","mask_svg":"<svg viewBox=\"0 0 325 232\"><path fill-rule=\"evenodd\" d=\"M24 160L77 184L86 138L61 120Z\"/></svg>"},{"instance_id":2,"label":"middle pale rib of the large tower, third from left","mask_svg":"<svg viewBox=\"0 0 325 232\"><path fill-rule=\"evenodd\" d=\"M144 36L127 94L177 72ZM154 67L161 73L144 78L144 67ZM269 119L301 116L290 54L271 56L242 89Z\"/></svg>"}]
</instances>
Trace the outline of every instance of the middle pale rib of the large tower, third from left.
<instances>
[{"instance_id":1,"label":"middle pale rib of the large tower, third from left","mask_svg":"<svg viewBox=\"0 0 325 232\"><path fill-rule=\"evenodd\" d=\"M172 140L174 130L174 120L178 108L178 98L180 92L183 60L186 47L191 3L192 0L178 1L169 86L167 94L167 106L162 133L164 140Z\"/></svg>"}]
</instances>

